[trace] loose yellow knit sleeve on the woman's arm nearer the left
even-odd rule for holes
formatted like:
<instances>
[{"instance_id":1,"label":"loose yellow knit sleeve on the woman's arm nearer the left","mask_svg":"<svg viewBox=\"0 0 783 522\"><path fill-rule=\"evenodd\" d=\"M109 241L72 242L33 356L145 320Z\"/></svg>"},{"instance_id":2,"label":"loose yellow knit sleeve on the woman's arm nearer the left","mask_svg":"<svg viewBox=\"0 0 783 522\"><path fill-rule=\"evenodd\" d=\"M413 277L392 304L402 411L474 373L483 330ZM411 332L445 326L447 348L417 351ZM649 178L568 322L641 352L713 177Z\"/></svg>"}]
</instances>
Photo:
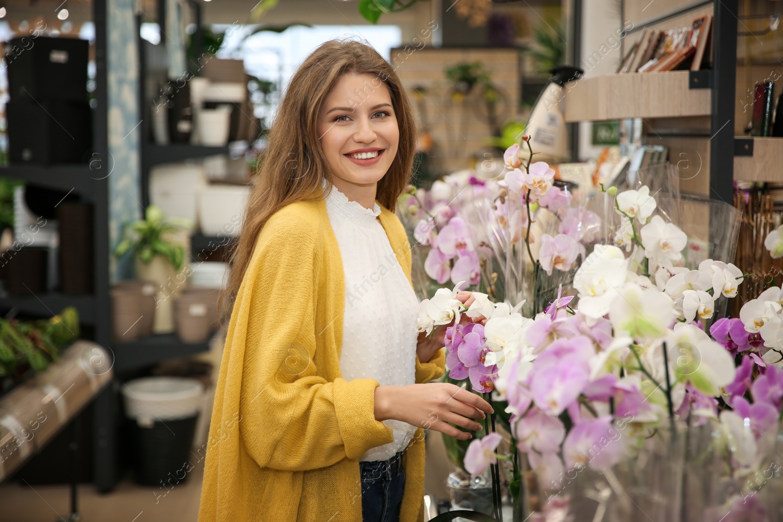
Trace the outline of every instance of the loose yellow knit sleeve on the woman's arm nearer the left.
<instances>
[{"instance_id":1,"label":"loose yellow knit sleeve on the woman's arm nearer the left","mask_svg":"<svg viewBox=\"0 0 783 522\"><path fill-rule=\"evenodd\" d=\"M377 380L327 382L316 368L316 359L331 363L316 357L316 316L332 313L316 309L323 248L317 221L273 216L237 294L226 350L244 355L226 386L240 386L240 444L258 466L323 468L394 438L374 416Z\"/></svg>"}]
</instances>

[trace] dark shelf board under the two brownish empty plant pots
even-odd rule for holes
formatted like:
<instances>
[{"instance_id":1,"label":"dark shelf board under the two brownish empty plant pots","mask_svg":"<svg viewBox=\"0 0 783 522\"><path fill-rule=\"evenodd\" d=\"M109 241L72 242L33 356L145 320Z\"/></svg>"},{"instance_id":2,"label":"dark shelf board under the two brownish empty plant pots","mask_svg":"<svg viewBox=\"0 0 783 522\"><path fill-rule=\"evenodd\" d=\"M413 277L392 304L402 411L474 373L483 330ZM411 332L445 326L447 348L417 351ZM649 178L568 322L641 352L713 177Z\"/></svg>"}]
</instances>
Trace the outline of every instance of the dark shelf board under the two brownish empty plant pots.
<instances>
[{"instance_id":1,"label":"dark shelf board under the two brownish empty plant pots","mask_svg":"<svg viewBox=\"0 0 783 522\"><path fill-rule=\"evenodd\" d=\"M135 369L153 365L168 359L188 357L209 351L212 336L200 343L183 343L175 333L163 333L144 337L129 343L112 343L114 371Z\"/></svg>"}]
</instances>

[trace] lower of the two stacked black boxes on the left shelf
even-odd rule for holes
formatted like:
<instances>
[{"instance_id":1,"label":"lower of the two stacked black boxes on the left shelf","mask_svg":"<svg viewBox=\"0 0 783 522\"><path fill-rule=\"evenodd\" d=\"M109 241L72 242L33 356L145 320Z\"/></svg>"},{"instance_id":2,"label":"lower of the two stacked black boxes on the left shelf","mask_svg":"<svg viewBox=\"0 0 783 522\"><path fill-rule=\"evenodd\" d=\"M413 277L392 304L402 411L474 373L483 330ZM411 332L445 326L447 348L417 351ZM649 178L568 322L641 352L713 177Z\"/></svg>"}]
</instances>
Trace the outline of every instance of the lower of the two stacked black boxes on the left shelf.
<instances>
[{"instance_id":1,"label":"lower of the two stacked black boxes on the left shelf","mask_svg":"<svg viewBox=\"0 0 783 522\"><path fill-rule=\"evenodd\" d=\"M88 103L9 101L5 115L10 163L89 162L92 110Z\"/></svg>"}]
</instances>

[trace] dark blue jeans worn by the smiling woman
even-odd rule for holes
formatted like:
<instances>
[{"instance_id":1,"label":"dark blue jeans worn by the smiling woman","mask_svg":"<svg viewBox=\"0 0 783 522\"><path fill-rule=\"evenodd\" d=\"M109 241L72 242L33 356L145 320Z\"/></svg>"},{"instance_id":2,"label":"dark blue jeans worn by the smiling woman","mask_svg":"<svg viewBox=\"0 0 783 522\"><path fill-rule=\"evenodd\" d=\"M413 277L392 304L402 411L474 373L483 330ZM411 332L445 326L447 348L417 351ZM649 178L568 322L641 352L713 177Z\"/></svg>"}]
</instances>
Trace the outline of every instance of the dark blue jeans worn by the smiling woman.
<instances>
[{"instance_id":1,"label":"dark blue jeans worn by the smiling woman","mask_svg":"<svg viewBox=\"0 0 783 522\"><path fill-rule=\"evenodd\" d=\"M363 522L399 522L405 471L402 452L388 460L359 462L362 472Z\"/></svg>"}]
</instances>

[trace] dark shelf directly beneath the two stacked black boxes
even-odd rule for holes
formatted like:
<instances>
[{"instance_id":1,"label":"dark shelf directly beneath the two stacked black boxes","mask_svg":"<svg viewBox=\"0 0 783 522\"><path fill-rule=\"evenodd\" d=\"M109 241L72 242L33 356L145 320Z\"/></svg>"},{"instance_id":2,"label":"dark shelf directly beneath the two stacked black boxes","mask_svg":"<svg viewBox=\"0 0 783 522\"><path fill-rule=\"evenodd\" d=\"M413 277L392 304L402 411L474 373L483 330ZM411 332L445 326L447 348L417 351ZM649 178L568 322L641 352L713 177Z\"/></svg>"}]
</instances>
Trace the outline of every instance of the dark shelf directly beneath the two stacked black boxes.
<instances>
[{"instance_id":1,"label":"dark shelf directly beneath the two stacked black boxes","mask_svg":"<svg viewBox=\"0 0 783 522\"><path fill-rule=\"evenodd\" d=\"M48 189L80 193L92 198L99 182L106 174L90 170L89 165L8 165L0 167L0 178L14 178Z\"/></svg>"}]
</instances>

